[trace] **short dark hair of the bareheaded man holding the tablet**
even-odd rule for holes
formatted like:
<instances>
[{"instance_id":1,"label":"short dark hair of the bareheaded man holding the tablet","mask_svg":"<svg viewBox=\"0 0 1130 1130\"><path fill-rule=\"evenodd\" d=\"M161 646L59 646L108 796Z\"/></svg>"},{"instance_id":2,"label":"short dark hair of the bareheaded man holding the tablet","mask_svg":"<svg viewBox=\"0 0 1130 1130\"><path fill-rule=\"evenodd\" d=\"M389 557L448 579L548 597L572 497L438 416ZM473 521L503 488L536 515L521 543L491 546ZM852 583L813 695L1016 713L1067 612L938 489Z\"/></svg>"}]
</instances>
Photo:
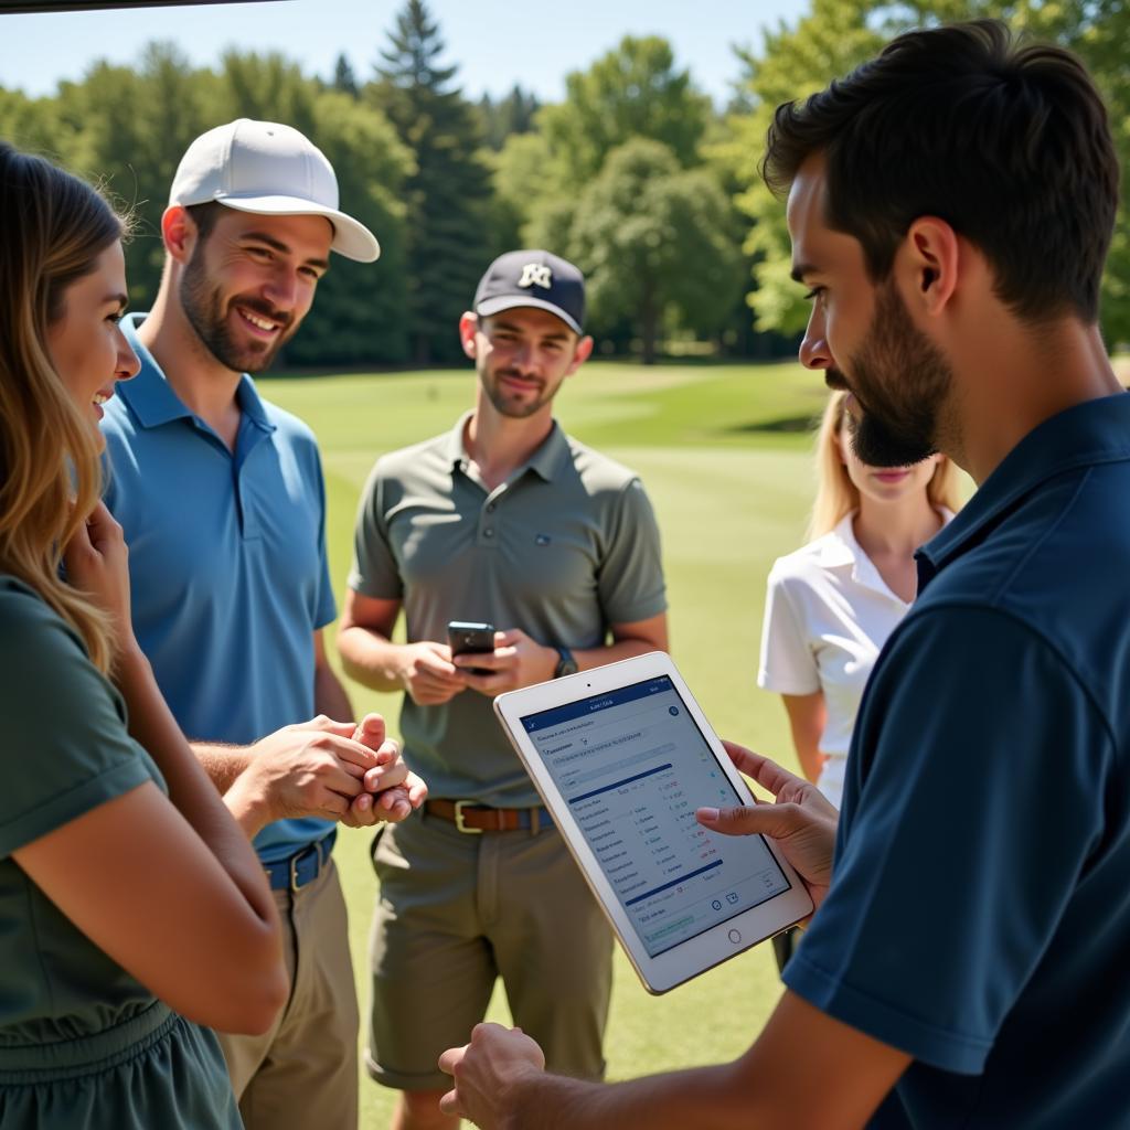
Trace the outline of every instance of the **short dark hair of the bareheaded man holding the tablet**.
<instances>
[{"instance_id":1,"label":"short dark hair of the bareheaded man holding the tablet","mask_svg":"<svg viewBox=\"0 0 1130 1130\"><path fill-rule=\"evenodd\" d=\"M938 216L984 254L1018 316L1097 321L1119 163L1102 97L1069 51L988 19L907 32L777 107L766 184L785 194L815 153L827 221L860 241L873 280L910 225Z\"/></svg>"}]
</instances>

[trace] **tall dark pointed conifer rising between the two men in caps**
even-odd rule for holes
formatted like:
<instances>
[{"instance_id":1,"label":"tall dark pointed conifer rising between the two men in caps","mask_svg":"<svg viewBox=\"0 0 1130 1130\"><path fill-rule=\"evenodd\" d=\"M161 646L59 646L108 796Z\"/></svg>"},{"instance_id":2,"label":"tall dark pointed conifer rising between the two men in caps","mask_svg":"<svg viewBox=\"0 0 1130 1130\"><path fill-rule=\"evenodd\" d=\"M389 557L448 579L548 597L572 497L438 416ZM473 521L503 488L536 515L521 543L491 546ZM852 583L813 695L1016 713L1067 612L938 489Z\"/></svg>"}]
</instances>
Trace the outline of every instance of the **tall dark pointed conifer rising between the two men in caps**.
<instances>
[{"instance_id":1,"label":"tall dark pointed conifer rising between the two men in caps","mask_svg":"<svg viewBox=\"0 0 1130 1130\"><path fill-rule=\"evenodd\" d=\"M459 315L490 259L490 183L478 118L450 85L457 68L440 64L443 50L423 0L408 0L367 92L415 162L405 184L406 282L411 355L420 365L461 356Z\"/></svg>"}]
</instances>

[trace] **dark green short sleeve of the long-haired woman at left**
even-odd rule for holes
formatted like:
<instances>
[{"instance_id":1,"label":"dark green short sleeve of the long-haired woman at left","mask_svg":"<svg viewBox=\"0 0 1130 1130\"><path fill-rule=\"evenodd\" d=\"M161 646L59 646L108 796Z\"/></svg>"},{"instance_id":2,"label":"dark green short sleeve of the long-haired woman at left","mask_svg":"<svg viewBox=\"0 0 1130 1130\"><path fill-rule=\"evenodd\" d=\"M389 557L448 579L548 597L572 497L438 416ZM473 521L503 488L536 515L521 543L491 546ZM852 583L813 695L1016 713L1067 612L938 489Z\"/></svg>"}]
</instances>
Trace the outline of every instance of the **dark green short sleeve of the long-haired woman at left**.
<instances>
[{"instance_id":1,"label":"dark green short sleeve of the long-haired woman at left","mask_svg":"<svg viewBox=\"0 0 1130 1130\"><path fill-rule=\"evenodd\" d=\"M0 603L0 858L153 781L125 709L37 597Z\"/></svg>"}]
</instances>

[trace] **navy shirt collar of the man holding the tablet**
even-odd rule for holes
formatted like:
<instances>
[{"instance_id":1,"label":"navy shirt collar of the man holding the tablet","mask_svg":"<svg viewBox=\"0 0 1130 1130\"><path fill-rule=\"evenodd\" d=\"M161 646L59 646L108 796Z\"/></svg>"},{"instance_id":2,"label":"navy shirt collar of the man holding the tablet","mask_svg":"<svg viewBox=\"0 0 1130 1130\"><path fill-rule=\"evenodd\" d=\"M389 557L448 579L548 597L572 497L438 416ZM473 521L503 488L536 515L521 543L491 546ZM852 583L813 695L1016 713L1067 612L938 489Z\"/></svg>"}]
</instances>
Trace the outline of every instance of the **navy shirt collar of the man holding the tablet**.
<instances>
[{"instance_id":1,"label":"navy shirt collar of the man holding the tablet","mask_svg":"<svg viewBox=\"0 0 1130 1130\"><path fill-rule=\"evenodd\" d=\"M1068 471L1130 459L1130 397L1087 400L1033 428L970 502L915 555L919 591L1038 486Z\"/></svg>"}]
</instances>

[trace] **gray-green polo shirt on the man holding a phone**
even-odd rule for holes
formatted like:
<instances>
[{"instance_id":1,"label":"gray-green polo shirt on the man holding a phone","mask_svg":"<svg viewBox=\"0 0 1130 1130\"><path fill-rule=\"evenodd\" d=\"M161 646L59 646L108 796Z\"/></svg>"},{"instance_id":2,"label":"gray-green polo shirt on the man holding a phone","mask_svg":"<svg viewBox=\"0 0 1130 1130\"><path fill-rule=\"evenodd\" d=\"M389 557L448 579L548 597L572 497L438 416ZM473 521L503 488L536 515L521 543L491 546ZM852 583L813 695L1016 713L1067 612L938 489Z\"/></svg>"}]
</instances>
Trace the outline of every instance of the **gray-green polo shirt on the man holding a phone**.
<instances>
[{"instance_id":1,"label":"gray-green polo shirt on the man holding a phone","mask_svg":"<svg viewBox=\"0 0 1130 1130\"><path fill-rule=\"evenodd\" d=\"M544 644L596 647L610 624L662 612L659 528L635 473L555 423L529 462L487 490L463 445L469 415L377 460L349 588L402 601L409 641L442 643L449 620L486 620ZM432 797L539 803L487 696L418 706L406 695L400 730Z\"/></svg>"}]
</instances>

